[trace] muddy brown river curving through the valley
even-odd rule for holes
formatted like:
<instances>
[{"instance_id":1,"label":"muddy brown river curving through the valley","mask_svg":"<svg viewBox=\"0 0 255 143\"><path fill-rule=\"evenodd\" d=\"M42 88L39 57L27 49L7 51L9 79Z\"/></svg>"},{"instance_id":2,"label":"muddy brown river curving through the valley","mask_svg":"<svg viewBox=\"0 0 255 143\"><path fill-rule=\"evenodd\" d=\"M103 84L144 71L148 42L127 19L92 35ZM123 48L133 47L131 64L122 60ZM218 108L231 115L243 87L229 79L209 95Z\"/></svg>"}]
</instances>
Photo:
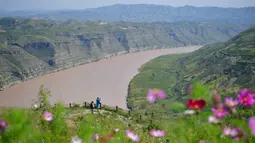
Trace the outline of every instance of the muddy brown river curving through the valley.
<instances>
[{"instance_id":1,"label":"muddy brown river curving through the valley","mask_svg":"<svg viewBox=\"0 0 255 143\"><path fill-rule=\"evenodd\" d=\"M102 104L127 109L128 84L142 64L160 55L192 52L199 48L131 53L40 76L0 91L0 107L31 107L44 84L51 91L52 102L83 104L101 97Z\"/></svg>"}]
</instances>

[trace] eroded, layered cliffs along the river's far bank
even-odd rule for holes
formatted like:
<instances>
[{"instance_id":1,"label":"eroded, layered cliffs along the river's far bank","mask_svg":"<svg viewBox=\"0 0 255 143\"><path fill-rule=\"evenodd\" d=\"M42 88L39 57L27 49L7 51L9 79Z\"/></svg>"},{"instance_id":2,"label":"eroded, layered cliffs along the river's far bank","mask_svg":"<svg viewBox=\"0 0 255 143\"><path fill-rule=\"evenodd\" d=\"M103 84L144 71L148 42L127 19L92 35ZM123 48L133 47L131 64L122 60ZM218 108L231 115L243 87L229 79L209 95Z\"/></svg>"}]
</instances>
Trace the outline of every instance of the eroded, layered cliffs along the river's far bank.
<instances>
[{"instance_id":1,"label":"eroded, layered cliffs along the river's far bank","mask_svg":"<svg viewBox=\"0 0 255 143\"><path fill-rule=\"evenodd\" d=\"M143 25L13 19L1 19L0 25L0 89L120 54L221 42L245 28L232 25L222 31L217 25L212 28L213 24L203 23Z\"/></svg>"}]
</instances>

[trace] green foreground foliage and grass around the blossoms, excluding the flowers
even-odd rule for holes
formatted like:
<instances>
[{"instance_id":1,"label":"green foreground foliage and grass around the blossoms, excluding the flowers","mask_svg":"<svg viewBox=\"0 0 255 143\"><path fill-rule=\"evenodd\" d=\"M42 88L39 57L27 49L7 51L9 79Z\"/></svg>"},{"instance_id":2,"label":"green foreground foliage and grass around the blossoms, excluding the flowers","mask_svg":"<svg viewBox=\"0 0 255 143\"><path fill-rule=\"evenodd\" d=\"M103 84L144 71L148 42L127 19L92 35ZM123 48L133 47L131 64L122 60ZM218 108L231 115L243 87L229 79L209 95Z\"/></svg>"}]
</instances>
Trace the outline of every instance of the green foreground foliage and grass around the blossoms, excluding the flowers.
<instances>
[{"instance_id":1,"label":"green foreground foliage and grass around the blossoms, excluding the flowers","mask_svg":"<svg viewBox=\"0 0 255 143\"><path fill-rule=\"evenodd\" d=\"M209 95L206 90L208 90L206 86L196 83L190 98L207 99ZM202 108L197 115L187 116L179 112L174 118L174 114L157 113L154 116L142 115L142 119L139 119L135 114L136 111L132 111L129 115L126 111L116 112L106 106L96 110L95 114L91 114L86 107L65 108L61 104L51 107L48 104L50 93L44 88L41 88L39 93L38 101L44 103L40 108L1 109L0 123L5 121L8 124L7 127L4 126L4 130L0 124L1 143L67 143L75 136L82 139L82 142L88 143L131 143L132 140L125 134L127 130L140 136L139 142L235 142L227 136L222 136L222 129L226 125L242 128L246 132L244 136L237 136L241 141L247 143L255 141L255 138L250 136L251 130L247 123L248 118L254 116L254 107L238 106L237 113L226 116L221 120L221 124L217 125L208 122L208 116L211 113ZM179 105L174 106L177 109L183 108L181 104L184 103L180 102ZM207 101L206 106L211 107L211 101ZM52 113L53 118L44 116L45 111ZM255 128L254 125L252 127ZM116 132L116 129L119 131ZM153 137L149 132L152 129L165 131L166 134L163 137ZM98 134L99 138L93 141L92 137L95 134Z\"/></svg>"}]
</instances>

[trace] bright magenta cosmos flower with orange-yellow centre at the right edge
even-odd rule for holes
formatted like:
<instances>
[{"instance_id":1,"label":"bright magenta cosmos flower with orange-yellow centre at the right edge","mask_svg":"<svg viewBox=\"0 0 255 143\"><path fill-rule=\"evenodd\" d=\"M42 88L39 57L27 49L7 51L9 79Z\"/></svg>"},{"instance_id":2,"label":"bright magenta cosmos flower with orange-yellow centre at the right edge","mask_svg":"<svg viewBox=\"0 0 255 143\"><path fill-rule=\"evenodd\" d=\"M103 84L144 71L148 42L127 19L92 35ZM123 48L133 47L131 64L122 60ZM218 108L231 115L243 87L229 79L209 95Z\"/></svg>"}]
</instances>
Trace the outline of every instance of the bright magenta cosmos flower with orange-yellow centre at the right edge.
<instances>
[{"instance_id":1,"label":"bright magenta cosmos flower with orange-yellow centre at the right edge","mask_svg":"<svg viewBox=\"0 0 255 143\"><path fill-rule=\"evenodd\" d=\"M253 106L255 104L255 94L252 93L252 90L243 89L238 95L237 98L239 102L245 106Z\"/></svg>"}]
</instances>

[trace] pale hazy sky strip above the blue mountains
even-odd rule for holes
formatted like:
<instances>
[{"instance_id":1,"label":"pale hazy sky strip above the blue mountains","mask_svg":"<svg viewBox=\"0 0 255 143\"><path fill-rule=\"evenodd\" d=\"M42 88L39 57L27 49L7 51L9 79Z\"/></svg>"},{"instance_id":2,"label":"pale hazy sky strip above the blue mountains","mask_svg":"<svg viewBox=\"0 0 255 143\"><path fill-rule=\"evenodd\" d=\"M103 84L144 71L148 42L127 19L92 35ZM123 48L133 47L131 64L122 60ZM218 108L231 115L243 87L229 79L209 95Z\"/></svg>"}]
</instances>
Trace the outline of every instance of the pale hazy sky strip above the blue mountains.
<instances>
[{"instance_id":1,"label":"pale hazy sky strip above the blue mountains","mask_svg":"<svg viewBox=\"0 0 255 143\"><path fill-rule=\"evenodd\" d=\"M112 4L160 4L172 6L255 6L255 0L0 0L0 9L85 9Z\"/></svg>"}]
</instances>

